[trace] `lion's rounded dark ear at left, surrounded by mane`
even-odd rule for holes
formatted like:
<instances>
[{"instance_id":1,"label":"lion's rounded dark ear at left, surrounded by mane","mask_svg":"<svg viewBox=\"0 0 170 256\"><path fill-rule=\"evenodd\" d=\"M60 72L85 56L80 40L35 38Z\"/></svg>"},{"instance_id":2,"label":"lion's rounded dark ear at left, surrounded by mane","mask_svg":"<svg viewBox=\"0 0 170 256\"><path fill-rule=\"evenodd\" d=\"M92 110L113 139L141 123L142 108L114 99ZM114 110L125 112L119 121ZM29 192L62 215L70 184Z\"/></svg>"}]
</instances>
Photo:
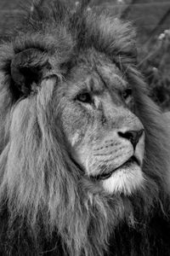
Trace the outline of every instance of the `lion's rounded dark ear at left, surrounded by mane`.
<instances>
[{"instance_id":1,"label":"lion's rounded dark ear at left, surrounded by mane","mask_svg":"<svg viewBox=\"0 0 170 256\"><path fill-rule=\"evenodd\" d=\"M51 69L48 55L39 49L22 50L14 55L14 59L11 61L11 76L14 86L24 96L30 95Z\"/></svg>"}]
</instances>

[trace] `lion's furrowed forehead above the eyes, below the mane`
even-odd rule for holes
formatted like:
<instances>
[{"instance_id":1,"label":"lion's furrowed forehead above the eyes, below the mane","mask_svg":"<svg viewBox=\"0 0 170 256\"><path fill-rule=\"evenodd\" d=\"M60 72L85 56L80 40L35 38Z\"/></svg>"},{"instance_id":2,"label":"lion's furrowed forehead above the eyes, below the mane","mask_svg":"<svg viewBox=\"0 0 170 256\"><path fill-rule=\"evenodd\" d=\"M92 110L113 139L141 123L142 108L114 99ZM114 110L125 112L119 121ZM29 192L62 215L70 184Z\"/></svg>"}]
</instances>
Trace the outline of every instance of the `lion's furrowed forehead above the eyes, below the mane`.
<instances>
[{"instance_id":1,"label":"lion's furrowed forehead above the eyes, below the mane","mask_svg":"<svg viewBox=\"0 0 170 256\"><path fill-rule=\"evenodd\" d=\"M92 53L93 54L93 53ZM126 77L105 55L81 55L72 68L68 90L76 93L77 90L91 90L100 92L105 90L123 90L127 87Z\"/></svg>"}]
</instances>

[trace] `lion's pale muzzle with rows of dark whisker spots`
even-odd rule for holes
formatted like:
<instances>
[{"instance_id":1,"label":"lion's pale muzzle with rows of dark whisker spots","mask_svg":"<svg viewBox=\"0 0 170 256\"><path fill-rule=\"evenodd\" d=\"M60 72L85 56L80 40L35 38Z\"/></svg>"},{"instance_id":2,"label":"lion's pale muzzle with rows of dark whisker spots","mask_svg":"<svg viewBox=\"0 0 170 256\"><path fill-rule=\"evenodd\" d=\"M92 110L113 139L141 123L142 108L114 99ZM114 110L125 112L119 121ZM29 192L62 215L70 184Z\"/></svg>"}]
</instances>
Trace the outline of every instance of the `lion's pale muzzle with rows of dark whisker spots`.
<instances>
[{"instance_id":1,"label":"lion's pale muzzle with rows of dark whisker spots","mask_svg":"<svg viewBox=\"0 0 170 256\"><path fill-rule=\"evenodd\" d=\"M127 138L120 137L119 131L109 134L105 140L95 147L88 155L87 172L89 176L96 176L99 173L107 173L122 166L132 156L135 156L142 166L144 159L144 130L139 137L135 148Z\"/></svg>"}]
</instances>

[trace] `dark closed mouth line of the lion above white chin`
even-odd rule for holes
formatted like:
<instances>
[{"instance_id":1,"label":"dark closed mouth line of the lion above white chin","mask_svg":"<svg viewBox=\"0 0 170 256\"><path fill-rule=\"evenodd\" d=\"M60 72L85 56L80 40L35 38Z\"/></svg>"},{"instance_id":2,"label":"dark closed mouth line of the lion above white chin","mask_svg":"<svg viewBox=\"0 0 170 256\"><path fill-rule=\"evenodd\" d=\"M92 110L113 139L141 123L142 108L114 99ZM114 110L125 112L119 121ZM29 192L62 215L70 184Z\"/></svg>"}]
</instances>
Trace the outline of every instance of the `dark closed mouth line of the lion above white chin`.
<instances>
[{"instance_id":1,"label":"dark closed mouth line of the lion above white chin","mask_svg":"<svg viewBox=\"0 0 170 256\"><path fill-rule=\"evenodd\" d=\"M116 170L121 169L122 167L125 167L125 168L130 167L132 164L136 164L136 165L140 166L139 160L134 155L132 157L130 157L126 162L124 162L121 166L116 167L116 169L112 170L111 172L99 173L96 176L90 176L90 177L95 180L106 179L106 178L111 177L113 172L116 172Z\"/></svg>"}]
</instances>

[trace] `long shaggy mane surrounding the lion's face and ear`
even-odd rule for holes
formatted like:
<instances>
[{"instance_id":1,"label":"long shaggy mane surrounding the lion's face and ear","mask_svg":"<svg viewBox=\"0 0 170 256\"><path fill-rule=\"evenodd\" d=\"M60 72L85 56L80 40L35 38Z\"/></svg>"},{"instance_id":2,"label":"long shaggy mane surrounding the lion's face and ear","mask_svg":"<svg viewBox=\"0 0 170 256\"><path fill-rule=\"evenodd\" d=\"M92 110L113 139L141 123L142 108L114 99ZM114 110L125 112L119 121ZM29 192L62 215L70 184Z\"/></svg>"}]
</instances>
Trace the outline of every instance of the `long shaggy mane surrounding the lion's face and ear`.
<instances>
[{"instance_id":1,"label":"long shaggy mane surrounding the lion's face and ear","mask_svg":"<svg viewBox=\"0 0 170 256\"><path fill-rule=\"evenodd\" d=\"M2 44L1 255L170 255L170 140L166 120L136 69L134 36L129 23L111 15L86 11L83 4L69 12L52 1L35 4L11 42ZM28 48L53 55L54 64L68 68L79 52L94 48L135 84L136 113L146 134L143 189L105 195L83 177L59 128L54 79L48 80L49 74L31 96L14 84L11 61Z\"/></svg>"}]
</instances>

